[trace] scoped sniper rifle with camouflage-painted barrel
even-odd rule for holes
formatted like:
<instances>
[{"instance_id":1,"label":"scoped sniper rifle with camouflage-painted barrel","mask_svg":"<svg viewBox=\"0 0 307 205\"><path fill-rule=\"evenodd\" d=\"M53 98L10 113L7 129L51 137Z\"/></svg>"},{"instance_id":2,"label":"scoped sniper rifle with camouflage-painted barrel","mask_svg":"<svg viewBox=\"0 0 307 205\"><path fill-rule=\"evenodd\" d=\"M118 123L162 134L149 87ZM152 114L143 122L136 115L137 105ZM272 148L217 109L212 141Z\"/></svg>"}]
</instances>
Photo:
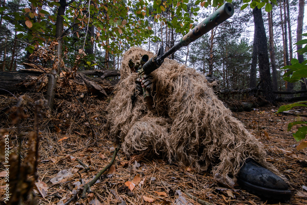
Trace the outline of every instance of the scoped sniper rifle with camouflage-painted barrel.
<instances>
[{"instance_id":1,"label":"scoped sniper rifle with camouflage-painted barrel","mask_svg":"<svg viewBox=\"0 0 307 205\"><path fill-rule=\"evenodd\" d=\"M186 34L180 39L179 43L174 45L167 52L164 53L163 46L161 45L156 56L148 59L149 58L148 55L143 55L142 58L136 62L135 65L130 60L129 67L130 68L134 67L135 70L138 69L138 73L140 74L141 79L144 76L144 74L148 76L151 72L158 69L162 65L166 57L175 53L181 47L187 46L191 42L200 38L201 36L206 34L208 31L212 30L214 27L226 21L233 14L234 14L234 7L232 6L232 4L225 3L223 6L218 8L215 12L213 12L213 14L208 16L205 20L200 22L200 24L198 24L192 30L190 30L188 34ZM144 98L147 98L150 96L150 93L145 88L143 88L143 95L144 95Z\"/></svg>"}]
</instances>

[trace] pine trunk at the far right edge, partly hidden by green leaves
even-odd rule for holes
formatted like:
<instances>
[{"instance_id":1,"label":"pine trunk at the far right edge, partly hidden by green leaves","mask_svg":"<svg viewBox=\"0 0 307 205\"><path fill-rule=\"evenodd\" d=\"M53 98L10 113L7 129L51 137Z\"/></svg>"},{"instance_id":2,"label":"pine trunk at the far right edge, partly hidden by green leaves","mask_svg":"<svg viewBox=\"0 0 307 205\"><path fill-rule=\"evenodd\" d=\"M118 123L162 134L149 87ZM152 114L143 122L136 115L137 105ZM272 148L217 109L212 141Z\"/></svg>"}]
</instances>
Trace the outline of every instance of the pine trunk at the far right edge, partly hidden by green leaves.
<instances>
[{"instance_id":1,"label":"pine trunk at the far right edge, partly hidden by green leaves","mask_svg":"<svg viewBox=\"0 0 307 205\"><path fill-rule=\"evenodd\" d=\"M304 0L299 0L299 10L298 10L298 17L297 17L297 30L296 30L296 39L297 41L302 40L301 34L303 33L303 19L304 19L304 6L305 2ZM301 49L302 45L297 45L297 50ZM300 53L297 53L297 60L299 63L302 63L304 61L304 56L300 55ZM301 90L307 89L307 82L305 78L301 78ZM301 96L307 96L307 93L301 93Z\"/></svg>"}]
</instances>

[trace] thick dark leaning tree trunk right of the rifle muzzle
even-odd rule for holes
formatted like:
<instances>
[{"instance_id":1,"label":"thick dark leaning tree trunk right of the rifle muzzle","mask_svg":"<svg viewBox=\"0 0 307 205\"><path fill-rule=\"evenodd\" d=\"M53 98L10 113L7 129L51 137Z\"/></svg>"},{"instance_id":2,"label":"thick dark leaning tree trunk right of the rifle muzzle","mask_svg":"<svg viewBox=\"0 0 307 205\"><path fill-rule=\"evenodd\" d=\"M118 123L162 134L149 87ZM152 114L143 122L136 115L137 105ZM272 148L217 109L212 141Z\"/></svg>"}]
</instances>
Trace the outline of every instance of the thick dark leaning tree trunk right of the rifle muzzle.
<instances>
[{"instance_id":1,"label":"thick dark leaning tree trunk right of the rifle muzzle","mask_svg":"<svg viewBox=\"0 0 307 205\"><path fill-rule=\"evenodd\" d=\"M258 61L260 82L263 95L267 101L274 104L273 85L270 73L270 62L268 56L268 48L266 41L266 31L264 29L261 9L256 6L253 10L255 33L258 45Z\"/></svg>"}]
</instances>

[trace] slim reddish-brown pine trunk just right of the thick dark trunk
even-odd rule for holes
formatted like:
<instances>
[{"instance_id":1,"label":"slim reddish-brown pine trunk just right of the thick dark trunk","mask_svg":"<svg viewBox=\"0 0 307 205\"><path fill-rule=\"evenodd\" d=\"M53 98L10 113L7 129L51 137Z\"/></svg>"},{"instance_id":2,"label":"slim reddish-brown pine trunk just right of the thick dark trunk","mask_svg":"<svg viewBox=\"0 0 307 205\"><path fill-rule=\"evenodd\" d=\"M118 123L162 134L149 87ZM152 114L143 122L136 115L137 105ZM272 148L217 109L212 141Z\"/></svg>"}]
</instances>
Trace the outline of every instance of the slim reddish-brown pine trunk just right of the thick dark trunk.
<instances>
[{"instance_id":1,"label":"slim reddish-brown pine trunk just right of the thick dark trunk","mask_svg":"<svg viewBox=\"0 0 307 205\"><path fill-rule=\"evenodd\" d=\"M269 42L270 42L270 59L271 59L271 66L272 66L272 83L273 83L273 90L277 90L277 71L276 71L276 56L275 56L275 49L274 49L274 38L273 38L273 21L272 21L272 11L268 12L268 21L269 21Z\"/></svg>"}]
</instances>

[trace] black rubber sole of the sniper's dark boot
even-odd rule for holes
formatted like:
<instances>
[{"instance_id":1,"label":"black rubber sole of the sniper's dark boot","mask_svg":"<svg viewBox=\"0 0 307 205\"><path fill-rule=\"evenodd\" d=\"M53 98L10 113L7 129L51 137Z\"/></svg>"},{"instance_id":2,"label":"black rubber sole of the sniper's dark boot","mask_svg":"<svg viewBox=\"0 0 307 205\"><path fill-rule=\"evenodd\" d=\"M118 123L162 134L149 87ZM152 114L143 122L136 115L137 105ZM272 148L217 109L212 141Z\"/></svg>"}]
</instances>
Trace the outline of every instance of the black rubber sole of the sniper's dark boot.
<instances>
[{"instance_id":1,"label":"black rubber sole of the sniper's dark boot","mask_svg":"<svg viewBox=\"0 0 307 205\"><path fill-rule=\"evenodd\" d=\"M259 187L257 185L253 185L246 181L238 179L237 181L241 187L245 188L247 191L251 191L252 193L259 195L260 198L268 199L268 200L278 200L278 201L287 201L290 200L291 191L287 190L278 190L278 189L269 189L265 187Z\"/></svg>"}]
</instances>

